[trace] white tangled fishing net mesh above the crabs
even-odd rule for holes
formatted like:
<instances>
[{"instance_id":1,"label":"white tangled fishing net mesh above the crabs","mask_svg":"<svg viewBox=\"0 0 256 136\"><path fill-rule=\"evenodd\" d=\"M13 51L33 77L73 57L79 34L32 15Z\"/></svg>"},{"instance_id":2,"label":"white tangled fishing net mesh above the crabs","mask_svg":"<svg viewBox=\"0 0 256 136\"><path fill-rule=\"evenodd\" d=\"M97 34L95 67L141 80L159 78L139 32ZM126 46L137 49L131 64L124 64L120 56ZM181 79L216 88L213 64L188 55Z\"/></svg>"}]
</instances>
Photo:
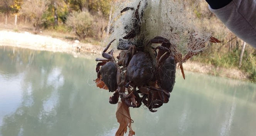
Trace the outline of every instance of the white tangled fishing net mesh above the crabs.
<instances>
[{"instance_id":1,"label":"white tangled fishing net mesh above the crabs","mask_svg":"<svg viewBox=\"0 0 256 136\"><path fill-rule=\"evenodd\" d=\"M127 40L137 46L143 46L155 36L167 38L175 47L171 49L175 54L183 57L187 53L199 53L209 49L211 33L196 26L192 8L199 0L186 3L183 0L126 0L115 5L115 12L111 20L111 35L106 42L116 39L112 43L116 48L119 39L123 39L135 27L136 8L140 18L140 32L134 38ZM194 4L191 4L194 3ZM124 8L127 11L120 13ZM125 45L125 44L123 44Z\"/></svg>"}]
</instances>

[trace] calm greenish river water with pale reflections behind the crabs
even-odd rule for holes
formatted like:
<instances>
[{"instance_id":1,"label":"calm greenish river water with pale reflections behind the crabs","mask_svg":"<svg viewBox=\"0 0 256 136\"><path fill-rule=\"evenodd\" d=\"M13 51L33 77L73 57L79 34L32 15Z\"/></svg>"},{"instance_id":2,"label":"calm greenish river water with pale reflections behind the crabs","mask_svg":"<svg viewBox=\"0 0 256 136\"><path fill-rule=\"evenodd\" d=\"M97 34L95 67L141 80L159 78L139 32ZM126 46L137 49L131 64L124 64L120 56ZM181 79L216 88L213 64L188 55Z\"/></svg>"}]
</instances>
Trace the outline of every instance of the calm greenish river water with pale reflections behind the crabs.
<instances>
[{"instance_id":1,"label":"calm greenish river water with pale reflections behind the crabs","mask_svg":"<svg viewBox=\"0 0 256 136\"><path fill-rule=\"evenodd\" d=\"M0 136L113 136L112 94L94 86L94 59L0 47ZM156 113L131 108L136 136L253 136L256 85L177 74L170 101Z\"/></svg>"}]
</instances>

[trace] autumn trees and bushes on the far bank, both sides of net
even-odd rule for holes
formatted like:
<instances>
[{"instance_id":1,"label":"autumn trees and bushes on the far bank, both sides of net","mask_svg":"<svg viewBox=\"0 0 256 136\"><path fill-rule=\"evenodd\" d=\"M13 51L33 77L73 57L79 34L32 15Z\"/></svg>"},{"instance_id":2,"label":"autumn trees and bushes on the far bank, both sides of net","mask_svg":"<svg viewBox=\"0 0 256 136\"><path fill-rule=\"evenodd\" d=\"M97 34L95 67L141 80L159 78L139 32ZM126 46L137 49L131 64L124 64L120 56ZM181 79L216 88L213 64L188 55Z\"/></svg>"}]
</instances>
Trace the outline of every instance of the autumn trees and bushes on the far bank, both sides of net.
<instances>
[{"instance_id":1,"label":"autumn trees and bushes on the far bank, both sides of net","mask_svg":"<svg viewBox=\"0 0 256 136\"><path fill-rule=\"evenodd\" d=\"M190 4L192 2L186 0ZM0 0L0 29L29 31L61 39L78 39L99 45L108 36L113 5L116 0ZM120 1L119 1L120 2ZM184 5L184 6L190 6ZM15 15L17 22L15 24ZM256 82L256 50L246 45L239 68L243 41L231 33L200 0L194 8L200 25L222 43L212 44L212 50L192 58L216 67L237 68Z\"/></svg>"}]
</instances>

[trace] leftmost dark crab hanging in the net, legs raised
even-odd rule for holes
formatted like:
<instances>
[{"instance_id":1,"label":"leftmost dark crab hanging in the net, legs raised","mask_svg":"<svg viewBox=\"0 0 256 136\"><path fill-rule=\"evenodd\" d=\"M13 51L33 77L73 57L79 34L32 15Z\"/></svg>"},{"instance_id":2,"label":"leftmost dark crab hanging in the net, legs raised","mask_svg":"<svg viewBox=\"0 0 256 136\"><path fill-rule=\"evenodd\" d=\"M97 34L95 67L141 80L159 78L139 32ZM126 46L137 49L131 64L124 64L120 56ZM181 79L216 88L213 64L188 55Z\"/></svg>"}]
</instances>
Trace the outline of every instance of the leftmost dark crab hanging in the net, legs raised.
<instances>
[{"instance_id":1,"label":"leftmost dark crab hanging in the net, legs raised","mask_svg":"<svg viewBox=\"0 0 256 136\"><path fill-rule=\"evenodd\" d=\"M112 97L109 98L109 103L116 104L118 102L119 93L116 91L118 89L117 76L118 74L118 64L113 56L113 50L106 53L111 43L115 41L112 40L106 48L103 50L103 58L96 58L96 61L101 61L96 65L97 79L100 79L108 87L109 92L115 92ZM96 79L96 80L97 80ZM102 83L102 82L101 82Z\"/></svg>"}]
</instances>

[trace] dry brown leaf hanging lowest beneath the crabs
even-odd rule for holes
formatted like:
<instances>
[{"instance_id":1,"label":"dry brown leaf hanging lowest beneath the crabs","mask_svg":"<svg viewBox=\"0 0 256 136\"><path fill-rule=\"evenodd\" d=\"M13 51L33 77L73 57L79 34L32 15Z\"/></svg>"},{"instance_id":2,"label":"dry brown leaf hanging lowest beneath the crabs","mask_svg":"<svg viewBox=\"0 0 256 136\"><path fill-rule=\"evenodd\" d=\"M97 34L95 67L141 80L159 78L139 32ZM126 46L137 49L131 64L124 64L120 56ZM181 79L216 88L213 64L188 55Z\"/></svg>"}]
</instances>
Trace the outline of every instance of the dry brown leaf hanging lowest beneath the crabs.
<instances>
[{"instance_id":1,"label":"dry brown leaf hanging lowest beneath the crabs","mask_svg":"<svg viewBox=\"0 0 256 136\"><path fill-rule=\"evenodd\" d=\"M131 116L129 107L125 103L118 102L117 111L116 111L117 122L120 123L118 130L116 131L115 136L124 136L127 132L127 126L129 127L129 135L135 135L135 132L131 129Z\"/></svg>"}]
</instances>

